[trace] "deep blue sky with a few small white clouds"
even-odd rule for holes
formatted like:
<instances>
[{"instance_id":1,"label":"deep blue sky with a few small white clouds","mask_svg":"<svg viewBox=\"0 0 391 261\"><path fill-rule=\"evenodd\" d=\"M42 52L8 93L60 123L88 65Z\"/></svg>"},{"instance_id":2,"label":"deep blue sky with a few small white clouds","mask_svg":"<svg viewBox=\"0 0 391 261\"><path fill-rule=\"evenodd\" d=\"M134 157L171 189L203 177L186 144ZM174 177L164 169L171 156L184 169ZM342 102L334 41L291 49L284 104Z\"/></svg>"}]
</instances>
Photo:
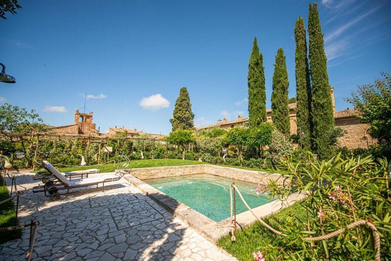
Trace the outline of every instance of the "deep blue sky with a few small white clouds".
<instances>
[{"instance_id":1,"label":"deep blue sky with a few small white clouds","mask_svg":"<svg viewBox=\"0 0 391 261\"><path fill-rule=\"evenodd\" d=\"M36 109L50 125L94 112L115 125L168 134L179 89L196 125L248 115L254 36L264 57L267 107L273 63L283 47L295 95L294 25L308 1L26 1L0 20L1 62L17 83L0 83L0 103ZM337 110L357 85L391 72L391 1L319 1Z\"/></svg>"}]
</instances>

